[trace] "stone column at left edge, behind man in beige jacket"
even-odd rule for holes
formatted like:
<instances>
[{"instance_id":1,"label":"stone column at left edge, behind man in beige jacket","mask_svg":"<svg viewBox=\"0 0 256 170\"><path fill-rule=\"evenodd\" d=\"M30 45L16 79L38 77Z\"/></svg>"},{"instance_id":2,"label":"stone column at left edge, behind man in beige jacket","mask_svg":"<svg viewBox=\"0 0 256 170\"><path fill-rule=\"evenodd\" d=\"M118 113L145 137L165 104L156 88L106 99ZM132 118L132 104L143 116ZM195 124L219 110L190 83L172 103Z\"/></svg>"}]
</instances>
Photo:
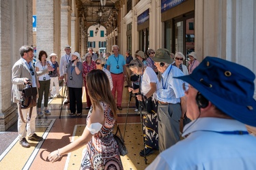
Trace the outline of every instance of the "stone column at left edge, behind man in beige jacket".
<instances>
[{"instance_id":1,"label":"stone column at left edge, behind man in beige jacket","mask_svg":"<svg viewBox=\"0 0 256 170\"><path fill-rule=\"evenodd\" d=\"M12 66L20 59L20 47L33 42L32 0L0 1L0 6L0 131L6 131L17 121Z\"/></svg>"}]
</instances>

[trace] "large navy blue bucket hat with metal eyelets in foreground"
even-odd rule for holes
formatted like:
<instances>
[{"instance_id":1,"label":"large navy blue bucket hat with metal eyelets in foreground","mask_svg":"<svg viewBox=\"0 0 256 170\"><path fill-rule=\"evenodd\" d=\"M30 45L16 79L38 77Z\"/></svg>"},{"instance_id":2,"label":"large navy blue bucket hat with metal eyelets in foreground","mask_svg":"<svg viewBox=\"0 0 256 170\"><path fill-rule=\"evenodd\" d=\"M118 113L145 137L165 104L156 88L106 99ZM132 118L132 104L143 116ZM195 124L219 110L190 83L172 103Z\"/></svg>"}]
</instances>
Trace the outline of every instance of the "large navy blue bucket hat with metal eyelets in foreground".
<instances>
[{"instance_id":1,"label":"large navy blue bucket hat with metal eyelets in foreground","mask_svg":"<svg viewBox=\"0 0 256 170\"><path fill-rule=\"evenodd\" d=\"M188 82L233 119L256 126L255 74L250 69L207 56L193 73L176 78Z\"/></svg>"}]
</instances>

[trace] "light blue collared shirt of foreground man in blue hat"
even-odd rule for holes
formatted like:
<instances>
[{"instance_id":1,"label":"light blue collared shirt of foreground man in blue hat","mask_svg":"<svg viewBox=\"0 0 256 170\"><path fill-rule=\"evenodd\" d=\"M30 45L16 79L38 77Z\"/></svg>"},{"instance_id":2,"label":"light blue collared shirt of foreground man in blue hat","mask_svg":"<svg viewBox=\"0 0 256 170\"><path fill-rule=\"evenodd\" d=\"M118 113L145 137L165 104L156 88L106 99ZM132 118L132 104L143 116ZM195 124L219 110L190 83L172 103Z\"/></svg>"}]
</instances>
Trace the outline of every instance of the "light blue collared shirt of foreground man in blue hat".
<instances>
[{"instance_id":1,"label":"light blue collared shirt of foreground man in blue hat","mask_svg":"<svg viewBox=\"0 0 256 170\"><path fill-rule=\"evenodd\" d=\"M256 169L256 137L216 133L223 131L246 127L223 118L194 120L184 127L183 136L190 135L160 153L146 169Z\"/></svg>"}]
</instances>

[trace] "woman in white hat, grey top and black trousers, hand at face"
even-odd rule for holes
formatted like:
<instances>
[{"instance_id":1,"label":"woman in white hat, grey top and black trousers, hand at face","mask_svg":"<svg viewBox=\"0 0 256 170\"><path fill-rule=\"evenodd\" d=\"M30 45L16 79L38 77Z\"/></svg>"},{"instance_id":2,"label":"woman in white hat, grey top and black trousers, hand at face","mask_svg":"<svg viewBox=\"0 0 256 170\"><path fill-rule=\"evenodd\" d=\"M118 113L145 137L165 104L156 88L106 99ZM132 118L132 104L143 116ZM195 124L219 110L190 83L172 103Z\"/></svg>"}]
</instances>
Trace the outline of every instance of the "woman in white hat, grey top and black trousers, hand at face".
<instances>
[{"instance_id":1,"label":"woman in white hat, grey top and black trousers, hand at face","mask_svg":"<svg viewBox=\"0 0 256 170\"><path fill-rule=\"evenodd\" d=\"M66 80L68 86L68 92L70 95L70 115L76 116L82 115L82 88L83 88L83 65L79 61L80 54L74 52L72 54L72 61L68 63L66 69Z\"/></svg>"}]
</instances>

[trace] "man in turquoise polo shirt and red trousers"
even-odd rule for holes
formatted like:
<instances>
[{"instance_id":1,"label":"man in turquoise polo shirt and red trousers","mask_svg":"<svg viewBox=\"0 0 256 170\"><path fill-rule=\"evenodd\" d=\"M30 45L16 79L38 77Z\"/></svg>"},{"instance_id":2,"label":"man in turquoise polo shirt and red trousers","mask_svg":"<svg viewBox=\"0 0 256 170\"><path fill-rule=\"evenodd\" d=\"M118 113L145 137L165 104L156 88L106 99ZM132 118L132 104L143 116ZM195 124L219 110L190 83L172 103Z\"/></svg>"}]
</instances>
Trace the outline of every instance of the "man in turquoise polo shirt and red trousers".
<instances>
[{"instance_id":1,"label":"man in turquoise polo shirt and red trousers","mask_svg":"<svg viewBox=\"0 0 256 170\"><path fill-rule=\"evenodd\" d=\"M115 93L117 92L117 109L122 110L122 96L124 89L124 81L126 80L126 61L124 56L119 54L119 47L117 45L112 46L113 54L109 56L106 61L106 69L111 72L113 80L112 95L115 99Z\"/></svg>"}]
</instances>

